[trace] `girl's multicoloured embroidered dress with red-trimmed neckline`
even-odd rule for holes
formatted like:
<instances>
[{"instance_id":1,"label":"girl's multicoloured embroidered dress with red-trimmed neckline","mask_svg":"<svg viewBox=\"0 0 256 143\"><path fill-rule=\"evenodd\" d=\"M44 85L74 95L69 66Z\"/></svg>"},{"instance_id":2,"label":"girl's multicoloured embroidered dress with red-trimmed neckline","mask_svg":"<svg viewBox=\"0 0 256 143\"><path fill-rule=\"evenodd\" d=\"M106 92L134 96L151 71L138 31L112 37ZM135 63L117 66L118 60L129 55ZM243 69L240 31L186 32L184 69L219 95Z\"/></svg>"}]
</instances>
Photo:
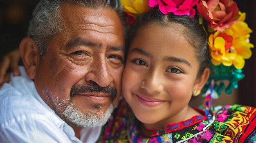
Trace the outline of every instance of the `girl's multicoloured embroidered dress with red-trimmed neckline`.
<instances>
[{"instance_id":1,"label":"girl's multicoloured embroidered dress with red-trimmed neckline","mask_svg":"<svg viewBox=\"0 0 256 143\"><path fill-rule=\"evenodd\" d=\"M255 143L256 108L240 105L215 106L209 116L198 115L157 129L145 138L139 121L121 101L101 130L98 143ZM204 113L204 111L200 111Z\"/></svg>"}]
</instances>

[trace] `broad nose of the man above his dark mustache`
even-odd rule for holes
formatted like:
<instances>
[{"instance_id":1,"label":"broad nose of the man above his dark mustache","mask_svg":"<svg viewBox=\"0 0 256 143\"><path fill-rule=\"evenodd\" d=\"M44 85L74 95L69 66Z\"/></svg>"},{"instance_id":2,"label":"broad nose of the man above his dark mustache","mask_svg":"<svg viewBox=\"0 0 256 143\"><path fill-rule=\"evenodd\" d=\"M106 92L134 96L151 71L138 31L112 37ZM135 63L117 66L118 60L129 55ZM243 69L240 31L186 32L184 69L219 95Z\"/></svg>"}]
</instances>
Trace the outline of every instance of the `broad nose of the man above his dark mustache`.
<instances>
[{"instance_id":1,"label":"broad nose of the man above his dark mustache","mask_svg":"<svg viewBox=\"0 0 256 143\"><path fill-rule=\"evenodd\" d=\"M91 64L90 71L85 75L85 80L94 81L101 87L106 87L113 81L105 58L95 60Z\"/></svg>"}]
</instances>

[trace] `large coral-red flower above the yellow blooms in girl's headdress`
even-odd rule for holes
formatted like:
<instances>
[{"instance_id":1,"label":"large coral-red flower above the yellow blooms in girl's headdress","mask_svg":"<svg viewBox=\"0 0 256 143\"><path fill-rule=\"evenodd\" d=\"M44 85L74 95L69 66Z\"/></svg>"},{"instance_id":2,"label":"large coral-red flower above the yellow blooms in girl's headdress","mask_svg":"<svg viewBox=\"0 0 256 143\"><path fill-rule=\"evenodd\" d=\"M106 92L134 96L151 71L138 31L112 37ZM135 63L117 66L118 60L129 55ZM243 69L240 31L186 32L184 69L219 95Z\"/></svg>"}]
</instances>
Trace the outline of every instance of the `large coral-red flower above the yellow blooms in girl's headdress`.
<instances>
[{"instance_id":1,"label":"large coral-red flower above the yellow blooms in girl's headdress","mask_svg":"<svg viewBox=\"0 0 256 143\"><path fill-rule=\"evenodd\" d=\"M200 0L197 10L215 31L224 31L239 18L239 9L233 0Z\"/></svg>"}]
</instances>

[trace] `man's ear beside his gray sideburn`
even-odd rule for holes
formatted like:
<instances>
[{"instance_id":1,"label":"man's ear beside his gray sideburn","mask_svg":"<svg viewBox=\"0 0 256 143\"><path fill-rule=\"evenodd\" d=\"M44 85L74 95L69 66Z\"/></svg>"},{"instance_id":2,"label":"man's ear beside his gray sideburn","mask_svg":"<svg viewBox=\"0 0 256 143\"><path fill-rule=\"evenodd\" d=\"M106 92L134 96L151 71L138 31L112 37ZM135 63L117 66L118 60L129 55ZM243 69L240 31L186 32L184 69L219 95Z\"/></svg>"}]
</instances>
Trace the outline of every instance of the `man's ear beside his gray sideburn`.
<instances>
[{"instance_id":1,"label":"man's ear beside his gray sideburn","mask_svg":"<svg viewBox=\"0 0 256 143\"><path fill-rule=\"evenodd\" d=\"M25 37L20 42L20 53L22 62L25 66L27 76L34 79L36 65L39 62L40 50L33 39Z\"/></svg>"}]
</instances>

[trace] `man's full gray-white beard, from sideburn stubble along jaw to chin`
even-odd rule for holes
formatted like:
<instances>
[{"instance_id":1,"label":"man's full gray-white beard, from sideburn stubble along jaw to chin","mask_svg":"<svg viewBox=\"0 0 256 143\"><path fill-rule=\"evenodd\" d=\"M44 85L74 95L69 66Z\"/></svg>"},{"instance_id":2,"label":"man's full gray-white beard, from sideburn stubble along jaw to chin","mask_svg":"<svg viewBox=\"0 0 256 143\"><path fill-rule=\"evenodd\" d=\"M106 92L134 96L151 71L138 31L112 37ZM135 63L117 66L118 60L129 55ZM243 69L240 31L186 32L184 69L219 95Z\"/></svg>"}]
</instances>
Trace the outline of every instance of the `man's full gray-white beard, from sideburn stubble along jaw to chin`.
<instances>
[{"instance_id":1,"label":"man's full gray-white beard, from sideburn stubble along jaw to chin","mask_svg":"<svg viewBox=\"0 0 256 143\"><path fill-rule=\"evenodd\" d=\"M74 106L74 103L70 99L58 101L58 99L53 98L52 94L50 94L46 88L43 90L43 93L46 95L47 104L51 104L50 107L61 119L67 123L72 123L80 127L96 127L104 125L111 117L114 110L114 106L111 103L105 114L100 111L100 109L82 112Z\"/></svg>"}]
</instances>

